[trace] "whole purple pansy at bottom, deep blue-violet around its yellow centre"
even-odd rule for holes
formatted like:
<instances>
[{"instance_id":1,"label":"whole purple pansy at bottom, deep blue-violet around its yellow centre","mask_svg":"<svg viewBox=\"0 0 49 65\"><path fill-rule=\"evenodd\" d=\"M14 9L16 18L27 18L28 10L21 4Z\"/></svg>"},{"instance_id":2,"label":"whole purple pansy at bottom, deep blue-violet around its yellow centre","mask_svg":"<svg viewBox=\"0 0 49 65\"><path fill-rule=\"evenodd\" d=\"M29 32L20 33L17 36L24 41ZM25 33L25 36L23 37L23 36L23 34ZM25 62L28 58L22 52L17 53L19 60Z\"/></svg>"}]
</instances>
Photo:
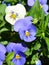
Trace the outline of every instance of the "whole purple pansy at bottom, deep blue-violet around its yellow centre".
<instances>
[{"instance_id":1,"label":"whole purple pansy at bottom, deep blue-violet around its yellow centre","mask_svg":"<svg viewBox=\"0 0 49 65\"><path fill-rule=\"evenodd\" d=\"M24 52L27 50L26 46L23 46L21 43L9 43L6 47L7 52L14 52L14 58L12 62L15 65L24 65L26 62L26 56Z\"/></svg>"}]
</instances>

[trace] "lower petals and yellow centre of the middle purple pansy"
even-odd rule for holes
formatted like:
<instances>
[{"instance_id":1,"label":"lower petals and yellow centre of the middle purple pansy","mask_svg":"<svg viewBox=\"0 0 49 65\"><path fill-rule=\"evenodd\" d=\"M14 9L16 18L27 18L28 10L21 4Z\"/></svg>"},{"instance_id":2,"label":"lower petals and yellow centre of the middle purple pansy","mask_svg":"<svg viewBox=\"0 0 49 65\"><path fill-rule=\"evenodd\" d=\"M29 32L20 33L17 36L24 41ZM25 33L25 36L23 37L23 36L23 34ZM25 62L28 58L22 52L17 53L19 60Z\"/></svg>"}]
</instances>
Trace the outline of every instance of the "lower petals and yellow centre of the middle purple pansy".
<instances>
[{"instance_id":1,"label":"lower petals and yellow centre of the middle purple pansy","mask_svg":"<svg viewBox=\"0 0 49 65\"><path fill-rule=\"evenodd\" d=\"M34 25L29 25L26 27L25 30L19 30L19 35L21 40L24 40L25 42L32 42L36 39L36 26Z\"/></svg>"}]
</instances>

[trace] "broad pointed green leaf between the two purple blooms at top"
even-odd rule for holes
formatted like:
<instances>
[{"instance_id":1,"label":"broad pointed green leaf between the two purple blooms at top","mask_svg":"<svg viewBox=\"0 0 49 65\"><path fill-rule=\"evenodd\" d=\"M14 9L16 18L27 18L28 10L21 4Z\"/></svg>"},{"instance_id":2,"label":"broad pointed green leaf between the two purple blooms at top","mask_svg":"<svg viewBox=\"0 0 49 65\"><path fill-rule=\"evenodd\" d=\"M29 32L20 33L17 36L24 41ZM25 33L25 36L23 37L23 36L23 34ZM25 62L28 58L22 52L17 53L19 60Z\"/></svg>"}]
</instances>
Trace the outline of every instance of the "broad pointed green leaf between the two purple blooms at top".
<instances>
[{"instance_id":1,"label":"broad pointed green leaf between the two purple blooms at top","mask_svg":"<svg viewBox=\"0 0 49 65\"><path fill-rule=\"evenodd\" d=\"M29 11L28 15L39 18L40 16L40 3L38 0L36 0L34 6L32 6L31 10Z\"/></svg>"}]
</instances>

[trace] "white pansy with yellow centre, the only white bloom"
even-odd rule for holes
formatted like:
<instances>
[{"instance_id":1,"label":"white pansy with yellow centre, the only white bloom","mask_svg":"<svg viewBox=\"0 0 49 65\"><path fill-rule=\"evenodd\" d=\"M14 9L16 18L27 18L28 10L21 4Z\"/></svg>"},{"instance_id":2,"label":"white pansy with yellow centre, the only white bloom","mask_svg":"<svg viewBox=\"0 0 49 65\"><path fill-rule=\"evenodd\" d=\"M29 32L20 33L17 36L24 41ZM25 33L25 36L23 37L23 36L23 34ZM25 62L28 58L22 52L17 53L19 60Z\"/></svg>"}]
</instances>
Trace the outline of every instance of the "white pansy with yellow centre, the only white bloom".
<instances>
[{"instance_id":1,"label":"white pansy with yellow centre, the only white bloom","mask_svg":"<svg viewBox=\"0 0 49 65\"><path fill-rule=\"evenodd\" d=\"M24 18L26 15L26 9L22 4L7 6L5 12L6 21L12 25L14 25L17 20Z\"/></svg>"}]
</instances>

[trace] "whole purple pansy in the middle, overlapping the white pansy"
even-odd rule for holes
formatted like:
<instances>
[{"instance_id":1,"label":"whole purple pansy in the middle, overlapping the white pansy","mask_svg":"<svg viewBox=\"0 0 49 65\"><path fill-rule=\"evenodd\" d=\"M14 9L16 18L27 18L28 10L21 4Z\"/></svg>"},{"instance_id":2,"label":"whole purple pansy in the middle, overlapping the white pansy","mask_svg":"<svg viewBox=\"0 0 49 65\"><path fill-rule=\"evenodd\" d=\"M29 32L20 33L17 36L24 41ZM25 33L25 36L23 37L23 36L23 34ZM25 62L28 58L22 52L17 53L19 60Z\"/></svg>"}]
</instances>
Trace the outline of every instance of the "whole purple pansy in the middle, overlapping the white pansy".
<instances>
[{"instance_id":1,"label":"whole purple pansy in the middle, overlapping the white pansy","mask_svg":"<svg viewBox=\"0 0 49 65\"><path fill-rule=\"evenodd\" d=\"M21 40L32 42L36 39L36 26L32 25L32 17L18 20L14 25L14 30L19 33Z\"/></svg>"}]
</instances>

